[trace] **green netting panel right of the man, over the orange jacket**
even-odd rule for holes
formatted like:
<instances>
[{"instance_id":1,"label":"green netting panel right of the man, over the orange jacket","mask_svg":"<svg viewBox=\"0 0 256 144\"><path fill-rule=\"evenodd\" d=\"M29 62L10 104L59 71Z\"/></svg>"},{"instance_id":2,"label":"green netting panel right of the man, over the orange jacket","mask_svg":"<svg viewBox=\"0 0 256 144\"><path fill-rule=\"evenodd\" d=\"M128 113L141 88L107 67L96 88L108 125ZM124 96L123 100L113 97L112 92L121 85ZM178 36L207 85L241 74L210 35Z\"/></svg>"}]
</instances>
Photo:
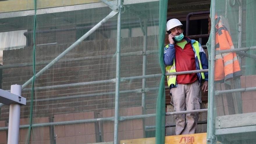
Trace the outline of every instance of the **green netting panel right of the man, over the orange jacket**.
<instances>
[{"instance_id":1,"label":"green netting panel right of the man, over the orange jacket","mask_svg":"<svg viewBox=\"0 0 256 144\"><path fill-rule=\"evenodd\" d=\"M255 7L211 1L208 143L255 143Z\"/></svg>"}]
</instances>

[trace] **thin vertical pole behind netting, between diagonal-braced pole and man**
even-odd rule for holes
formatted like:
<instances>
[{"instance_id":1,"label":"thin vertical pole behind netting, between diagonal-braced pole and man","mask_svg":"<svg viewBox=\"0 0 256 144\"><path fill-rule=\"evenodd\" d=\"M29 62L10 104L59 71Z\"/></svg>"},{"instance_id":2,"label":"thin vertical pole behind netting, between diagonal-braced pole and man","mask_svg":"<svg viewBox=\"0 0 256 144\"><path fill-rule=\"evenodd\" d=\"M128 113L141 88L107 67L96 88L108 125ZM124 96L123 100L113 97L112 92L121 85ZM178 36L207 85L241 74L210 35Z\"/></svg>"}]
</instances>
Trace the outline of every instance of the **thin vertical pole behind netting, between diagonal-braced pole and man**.
<instances>
[{"instance_id":1,"label":"thin vertical pole behind netting, between diagonal-braced pole and man","mask_svg":"<svg viewBox=\"0 0 256 144\"><path fill-rule=\"evenodd\" d=\"M142 63L142 75L146 75L147 70L147 19L144 19L144 35L143 35L143 63ZM146 87L146 79L142 79L142 89ZM145 104L146 93L143 92L141 96L141 106L143 109L143 114L145 113L146 104Z\"/></svg>"}]
</instances>

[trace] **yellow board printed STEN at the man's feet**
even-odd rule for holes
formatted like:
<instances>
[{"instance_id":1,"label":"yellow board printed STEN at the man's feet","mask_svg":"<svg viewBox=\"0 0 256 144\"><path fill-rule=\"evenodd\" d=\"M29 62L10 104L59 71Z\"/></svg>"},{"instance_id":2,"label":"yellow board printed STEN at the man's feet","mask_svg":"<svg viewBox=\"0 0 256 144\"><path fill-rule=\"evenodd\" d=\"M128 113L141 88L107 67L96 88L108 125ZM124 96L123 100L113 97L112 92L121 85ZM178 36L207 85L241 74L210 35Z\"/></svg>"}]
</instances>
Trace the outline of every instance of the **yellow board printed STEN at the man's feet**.
<instances>
[{"instance_id":1,"label":"yellow board printed STEN at the man's feet","mask_svg":"<svg viewBox=\"0 0 256 144\"><path fill-rule=\"evenodd\" d=\"M206 144L206 133L166 136L165 144ZM120 144L155 144L155 138L122 140Z\"/></svg>"}]
</instances>

